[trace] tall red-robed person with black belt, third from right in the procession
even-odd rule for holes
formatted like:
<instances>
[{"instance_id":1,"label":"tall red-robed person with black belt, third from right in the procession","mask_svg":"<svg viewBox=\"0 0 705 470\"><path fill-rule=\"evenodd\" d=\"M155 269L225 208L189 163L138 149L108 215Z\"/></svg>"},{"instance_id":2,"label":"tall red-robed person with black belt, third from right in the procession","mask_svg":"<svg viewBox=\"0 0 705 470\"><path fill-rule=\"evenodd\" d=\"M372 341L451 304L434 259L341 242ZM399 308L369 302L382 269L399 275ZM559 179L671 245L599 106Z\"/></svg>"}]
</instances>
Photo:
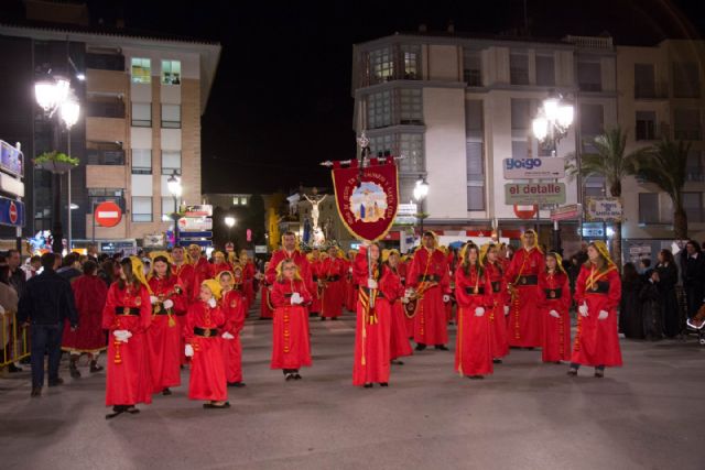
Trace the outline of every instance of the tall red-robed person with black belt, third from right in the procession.
<instances>
[{"instance_id":1,"label":"tall red-robed person with black belt, third from right in the procession","mask_svg":"<svg viewBox=\"0 0 705 470\"><path fill-rule=\"evenodd\" d=\"M543 253L533 230L527 230L522 241L523 247L517 250L505 272L510 294L508 339L509 346L536 348L543 343L543 318L536 310Z\"/></svg>"}]
</instances>

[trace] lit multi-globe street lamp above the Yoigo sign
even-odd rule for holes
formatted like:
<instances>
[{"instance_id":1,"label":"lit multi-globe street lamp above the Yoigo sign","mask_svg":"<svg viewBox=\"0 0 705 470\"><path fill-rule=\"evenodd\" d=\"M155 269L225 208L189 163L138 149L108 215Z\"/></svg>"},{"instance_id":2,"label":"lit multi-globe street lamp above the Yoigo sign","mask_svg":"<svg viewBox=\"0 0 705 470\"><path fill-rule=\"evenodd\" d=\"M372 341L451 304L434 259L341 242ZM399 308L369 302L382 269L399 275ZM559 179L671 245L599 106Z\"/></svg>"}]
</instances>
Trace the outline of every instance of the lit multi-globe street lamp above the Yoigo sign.
<instances>
[{"instance_id":1,"label":"lit multi-globe street lamp above the Yoigo sign","mask_svg":"<svg viewBox=\"0 0 705 470\"><path fill-rule=\"evenodd\" d=\"M557 156L558 142L567 135L568 128L573 124L573 105L565 102L558 94L552 94L539 108L531 128L540 145L543 145L551 156ZM538 214L536 210L536 216ZM553 222L553 249L561 252L561 230L557 220Z\"/></svg>"}]
</instances>

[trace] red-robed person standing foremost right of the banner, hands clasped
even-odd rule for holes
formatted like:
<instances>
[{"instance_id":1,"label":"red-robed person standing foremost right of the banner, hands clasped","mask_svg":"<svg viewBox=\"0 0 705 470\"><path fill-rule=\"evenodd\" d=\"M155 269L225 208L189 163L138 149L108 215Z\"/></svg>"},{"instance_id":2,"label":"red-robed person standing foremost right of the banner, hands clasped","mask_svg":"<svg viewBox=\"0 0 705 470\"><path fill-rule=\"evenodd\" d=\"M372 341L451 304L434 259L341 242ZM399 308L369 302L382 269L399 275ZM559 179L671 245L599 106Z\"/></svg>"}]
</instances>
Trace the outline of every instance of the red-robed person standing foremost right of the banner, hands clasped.
<instances>
[{"instance_id":1,"label":"red-robed person standing foremost right of the banner, hands clasped","mask_svg":"<svg viewBox=\"0 0 705 470\"><path fill-rule=\"evenodd\" d=\"M492 308L491 284L480 264L480 250L468 242L455 271L455 298L458 303L458 332L455 371L469 379L491 374L492 347L488 311Z\"/></svg>"}]
</instances>

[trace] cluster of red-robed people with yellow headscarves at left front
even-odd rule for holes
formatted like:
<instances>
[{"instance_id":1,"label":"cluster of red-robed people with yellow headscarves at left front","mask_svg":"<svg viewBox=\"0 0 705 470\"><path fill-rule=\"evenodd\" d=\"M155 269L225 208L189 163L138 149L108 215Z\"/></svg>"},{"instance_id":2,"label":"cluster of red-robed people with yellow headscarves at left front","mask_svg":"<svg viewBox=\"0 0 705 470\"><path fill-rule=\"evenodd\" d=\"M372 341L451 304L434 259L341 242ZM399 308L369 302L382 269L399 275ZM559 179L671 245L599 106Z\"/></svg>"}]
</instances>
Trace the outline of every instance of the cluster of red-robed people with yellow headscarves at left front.
<instances>
[{"instance_id":1,"label":"cluster of red-robed people with yellow headscarves at left front","mask_svg":"<svg viewBox=\"0 0 705 470\"><path fill-rule=\"evenodd\" d=\"M139 258L123 259L107 293L107 418L139 413L135 404L151 403L153 394L171 395L185 364L188 397L228 408L227 386L245 386L240 331L254 296L254 266L220 252L209 263L198 245L151 258L147 273Z\"/></svg>"}]
</instances>

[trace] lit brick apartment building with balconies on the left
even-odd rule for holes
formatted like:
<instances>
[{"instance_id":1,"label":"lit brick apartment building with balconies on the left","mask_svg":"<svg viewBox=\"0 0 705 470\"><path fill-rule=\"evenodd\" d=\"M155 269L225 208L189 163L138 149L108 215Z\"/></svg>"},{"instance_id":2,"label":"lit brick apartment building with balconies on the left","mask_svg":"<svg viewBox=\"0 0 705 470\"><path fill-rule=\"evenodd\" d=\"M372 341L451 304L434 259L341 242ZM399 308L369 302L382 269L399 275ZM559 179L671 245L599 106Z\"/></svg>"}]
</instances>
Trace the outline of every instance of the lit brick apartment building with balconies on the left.
<instances>
[{"instance_id":1,"label":"lit brick apartment building with balconies on the left","mask_svg":"<svg viewBox=\"0 0 705 470\"><path fill-rule=\"evenodd\" d=\"M18 61L18 76L2 94L14 99L21 117L0 120L0 134L21 142L25 155L55 145L52 122L33 102L35 80L67 77L80 102L79 122L56 140L65 152L70 139L70 153L80 160L70 179L75 247L166 231L165 216L174 211L171 175L182 178L183 203L202 201L200 117L220 45L85 24L0 24L0 42ZM31 236L51 229L53 192L46 172L28 168ZM62 197L67 208L65 187ZM123 210L116 227L94 223L94 208L106 200ZM62 216L66 231L67 214Z\"/></svg>"}]
</instances>

